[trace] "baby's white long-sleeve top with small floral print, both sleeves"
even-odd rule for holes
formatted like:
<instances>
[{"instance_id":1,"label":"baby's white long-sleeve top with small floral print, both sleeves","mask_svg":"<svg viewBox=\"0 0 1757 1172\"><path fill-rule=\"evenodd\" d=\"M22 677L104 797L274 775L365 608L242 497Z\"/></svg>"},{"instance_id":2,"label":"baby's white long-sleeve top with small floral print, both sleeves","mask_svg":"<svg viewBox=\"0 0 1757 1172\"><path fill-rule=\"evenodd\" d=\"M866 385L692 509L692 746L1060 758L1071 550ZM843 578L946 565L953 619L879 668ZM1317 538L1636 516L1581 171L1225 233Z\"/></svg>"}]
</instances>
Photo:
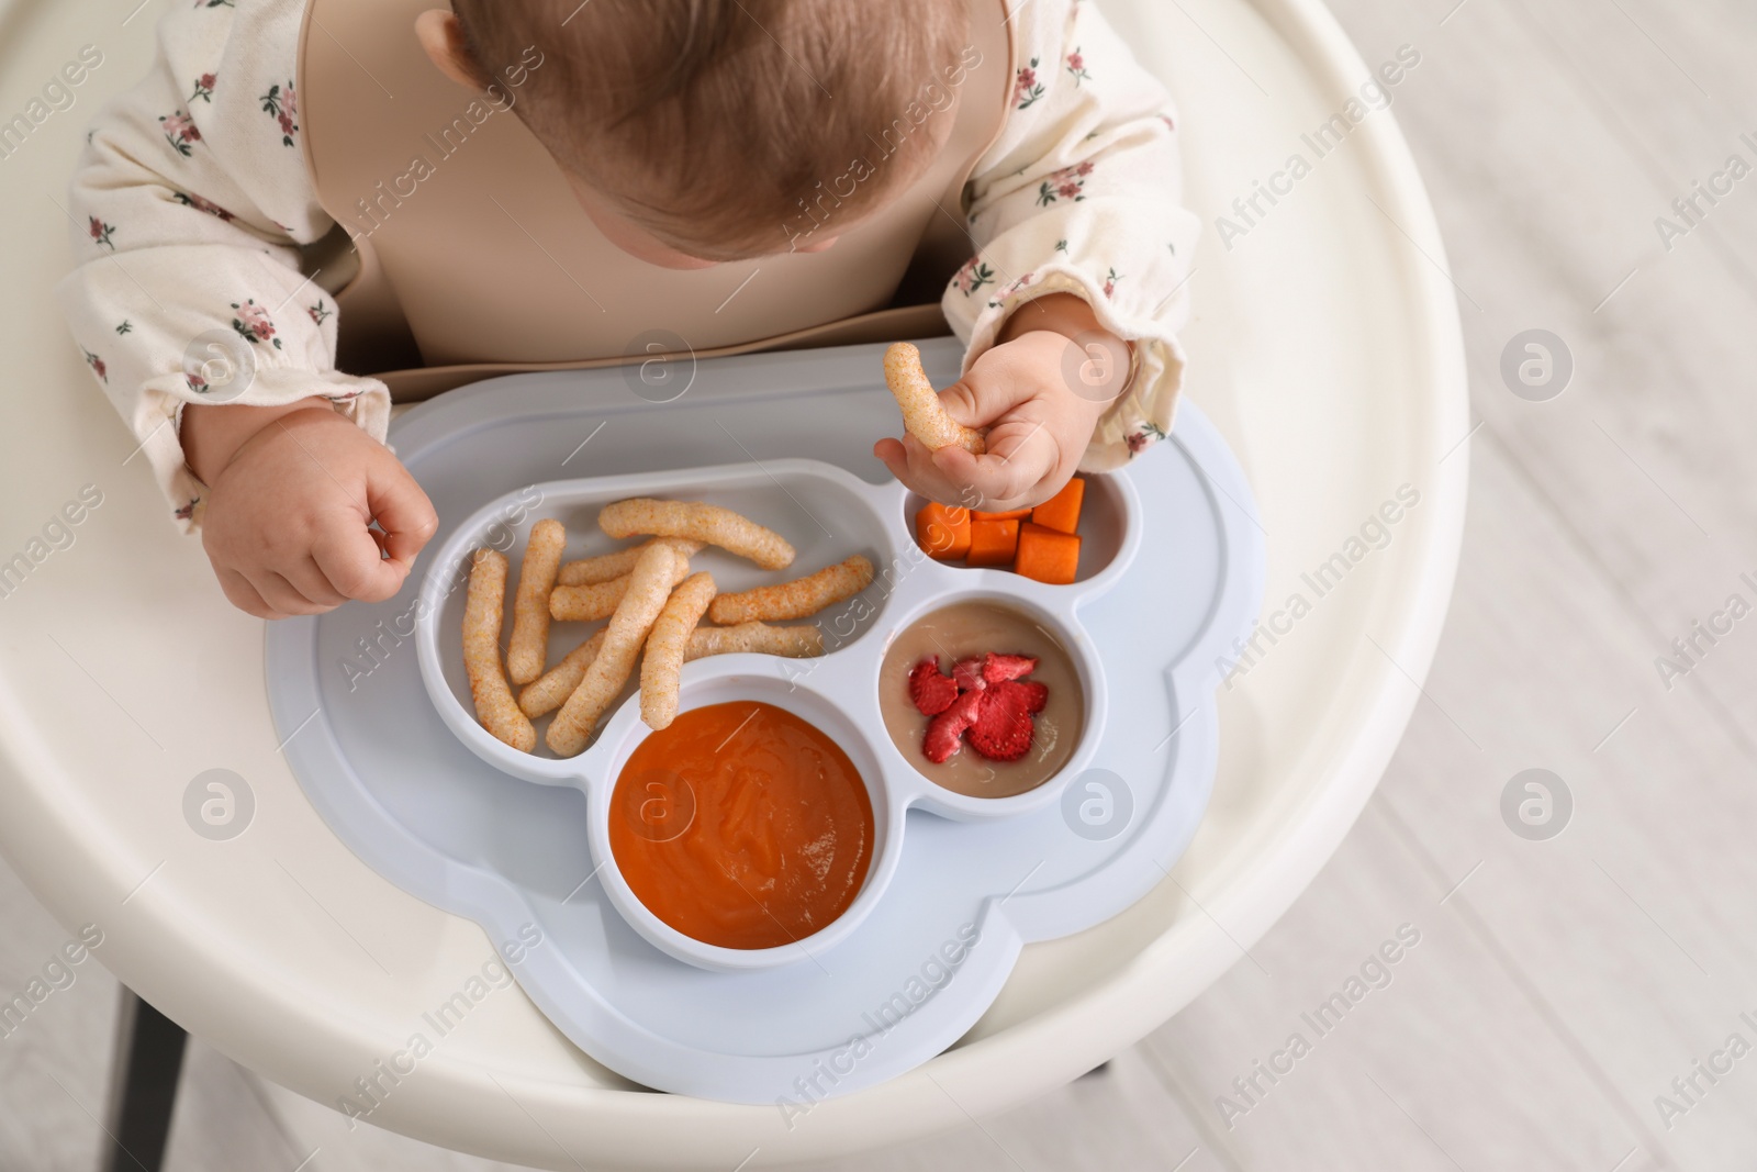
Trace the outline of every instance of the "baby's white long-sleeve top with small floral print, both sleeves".
<instances>
[{"instance_id":1,"label":"baby's white long-sleeve top with small floral print, both sleeves","mask_svg":"<svg viewBox=\"0 0 1757 1172\"><path fill-rule=\"evenodd\" d=\"M184 404L214 401L184 353L237 337L255 376L228 402L329 397L383 441L390 395L336 369L336 304L299 246L334 221L299 142L304 0L195 0L158 25L151 72L104 107L70 188L77 267L58 288L93 376L193 531L207 488L184 464ZM979 253L942 299L965 367L1023 300L1068 292L1133 343L1135 373L1081 462L1103 471L1165 436L1200 230L1179 204L1170 97L1088 0L1024 0L1000 139L970 179ZM234 344L235 348L235 344Z\"/></svg>"}]
</instances>

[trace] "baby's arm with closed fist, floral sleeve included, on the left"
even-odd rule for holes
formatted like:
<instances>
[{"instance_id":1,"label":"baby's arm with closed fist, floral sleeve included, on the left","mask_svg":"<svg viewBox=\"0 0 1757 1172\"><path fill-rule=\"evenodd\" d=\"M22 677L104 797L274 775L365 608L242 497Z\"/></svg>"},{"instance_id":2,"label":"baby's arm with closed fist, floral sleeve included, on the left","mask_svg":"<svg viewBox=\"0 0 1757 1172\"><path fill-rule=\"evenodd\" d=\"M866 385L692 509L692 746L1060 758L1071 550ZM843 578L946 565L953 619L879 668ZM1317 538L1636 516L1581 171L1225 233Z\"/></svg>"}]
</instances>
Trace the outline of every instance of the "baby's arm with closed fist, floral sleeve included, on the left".
<instances>
[{"instance_id":1,"label":"baby's arm with closed fist, floral sleeve included, on the left","mask_svg":"<svg viewBox=\"0 0 1757 1172\"><path fill-rule=\"evenodd\" d=\"M336 304L299 269L299 246L332 227L299 139L302 9L199 5L160 23L151 72L81 155L77 267L58 288L176 518L204 531L227 596L264 617L388 596L432 524L383 446L383 383L334 369ZM220 383L223 364L192 374L192 346L197 360L244 355L242 394ZM278 492L264 494L271 466ZM372 518L411 529L387 541Z\"/></svg>"}]
</instances>

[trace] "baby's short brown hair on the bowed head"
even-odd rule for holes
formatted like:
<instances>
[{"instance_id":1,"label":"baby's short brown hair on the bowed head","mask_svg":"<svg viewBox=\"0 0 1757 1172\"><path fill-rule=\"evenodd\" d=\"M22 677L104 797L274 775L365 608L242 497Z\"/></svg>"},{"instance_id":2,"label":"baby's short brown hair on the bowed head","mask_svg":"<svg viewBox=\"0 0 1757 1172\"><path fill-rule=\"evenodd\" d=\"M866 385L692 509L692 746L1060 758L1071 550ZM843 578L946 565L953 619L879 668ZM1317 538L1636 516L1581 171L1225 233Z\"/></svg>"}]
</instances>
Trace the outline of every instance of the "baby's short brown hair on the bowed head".
<instances>
[{"instance_id":1,"label":"baby's short brown hair on the bowed head","mask_svg":"<svg viewBox=\"0 0 1757 1172\"><path fill-rule=\"evenodd\" d=\"M543 54L515 109L564 170L708 260L787 251L884 204L945 141L973 63L963 0L453 9L485 72Z\"/></svg>"}]
</instances>

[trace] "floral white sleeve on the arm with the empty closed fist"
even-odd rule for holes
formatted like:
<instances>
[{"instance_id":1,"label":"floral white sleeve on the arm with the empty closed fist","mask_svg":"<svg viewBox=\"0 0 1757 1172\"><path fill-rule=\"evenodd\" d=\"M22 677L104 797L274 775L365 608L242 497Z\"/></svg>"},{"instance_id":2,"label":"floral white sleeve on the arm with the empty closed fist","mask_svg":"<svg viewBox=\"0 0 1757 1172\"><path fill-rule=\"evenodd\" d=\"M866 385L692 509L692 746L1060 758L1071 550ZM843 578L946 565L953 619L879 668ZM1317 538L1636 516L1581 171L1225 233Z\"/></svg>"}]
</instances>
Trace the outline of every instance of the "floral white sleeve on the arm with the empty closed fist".
<instances>
[{"instance_id":1,"label":"floral white sleeve on the arm with the empty closed fist","mask_svg":"<svg viewBox=\"0 0 1757 1172\"><path fill-rule=\"evenodd\" d=\"M177 439L184 404L325 395L380 441L390 422L383 383L336 371L336 304L299 267L334 223L299 142L302 12L253 0L165 16L151 72L98 112L69 190L61 309L186 532L207 488Z\"/></svg>"}]
</instances>

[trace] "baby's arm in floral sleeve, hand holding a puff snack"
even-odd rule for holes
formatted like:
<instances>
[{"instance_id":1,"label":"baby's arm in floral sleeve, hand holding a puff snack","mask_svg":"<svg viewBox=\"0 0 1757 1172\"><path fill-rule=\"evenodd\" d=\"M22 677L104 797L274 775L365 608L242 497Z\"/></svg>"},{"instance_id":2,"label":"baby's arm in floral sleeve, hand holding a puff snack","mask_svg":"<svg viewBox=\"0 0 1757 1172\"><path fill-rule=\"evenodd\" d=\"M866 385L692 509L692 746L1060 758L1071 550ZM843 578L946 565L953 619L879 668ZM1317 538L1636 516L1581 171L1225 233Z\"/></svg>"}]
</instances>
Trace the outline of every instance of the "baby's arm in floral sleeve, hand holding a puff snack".
<instances>
[{"instance_id":1,"label":"baby's arm in floral sleeve, hand holding a puff snack","mask_svg":"<svg viewBox=\"0 0 1757 1172\"><path fill-rule=\"evenodd\" d=\"M977 255L942 299L966 343L947 408L991 427L1000 452L929 457L907 439L880 452L949 503L956 487L1033 503L1075 466L1124 464L1170 429L1182 380L1175 330L1200 221L1179 204L1170 95L1091 4L1037 0L1016 25L1007 127L968 188Z\"/></svg>"}]
</instances>

